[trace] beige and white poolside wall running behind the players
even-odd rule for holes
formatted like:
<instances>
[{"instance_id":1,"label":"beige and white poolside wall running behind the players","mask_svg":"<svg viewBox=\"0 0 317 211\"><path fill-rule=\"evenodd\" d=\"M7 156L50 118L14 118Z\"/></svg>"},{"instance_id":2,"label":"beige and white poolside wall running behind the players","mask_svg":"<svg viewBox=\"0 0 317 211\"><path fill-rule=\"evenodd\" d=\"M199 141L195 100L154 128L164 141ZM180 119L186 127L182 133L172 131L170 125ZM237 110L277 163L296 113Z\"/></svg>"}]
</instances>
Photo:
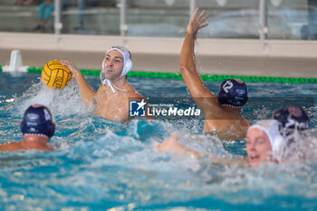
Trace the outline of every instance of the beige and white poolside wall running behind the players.
<instances>
[{"instance_id":1,"label":"beige and white poolside wall running behind the players","mask_svg":"<svg viewBox=\"0 0 317 211\"><path fill-rule=\"evenodd\" d=\"M18 49L24 65L43 66L53 59L80 69L100 70L103 54L113 44L132 53L133 71L179 72L184 38L121 37L74 34L0 33L0 65ZM317 41L197 39L197 69L207 74L317 77Z\"/></svg>"}]
</instances>

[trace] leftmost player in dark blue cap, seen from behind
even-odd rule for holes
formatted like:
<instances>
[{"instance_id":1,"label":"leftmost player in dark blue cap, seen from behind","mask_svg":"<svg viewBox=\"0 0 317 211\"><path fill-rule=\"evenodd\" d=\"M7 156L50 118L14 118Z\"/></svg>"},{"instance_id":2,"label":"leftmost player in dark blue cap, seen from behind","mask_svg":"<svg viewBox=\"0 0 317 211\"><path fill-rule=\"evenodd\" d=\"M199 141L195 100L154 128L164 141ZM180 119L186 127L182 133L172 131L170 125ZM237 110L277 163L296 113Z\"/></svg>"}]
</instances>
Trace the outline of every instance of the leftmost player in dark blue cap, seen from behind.
<instances>
[{"instance_id":1,"label":"leftmost player in dark blue cap, seen from behind","mask_svg":"<svg viewBox=\"0 0 317 211\"><path fill-rule=\"evenodd\" d=\"M19 142L10 142L0 145L0 150L53 150L47 143L53 137L55 125L52 114L45 106L34 104L24 112L21 122L21 131L24 139Z\"/></svg>"}]
</instances>

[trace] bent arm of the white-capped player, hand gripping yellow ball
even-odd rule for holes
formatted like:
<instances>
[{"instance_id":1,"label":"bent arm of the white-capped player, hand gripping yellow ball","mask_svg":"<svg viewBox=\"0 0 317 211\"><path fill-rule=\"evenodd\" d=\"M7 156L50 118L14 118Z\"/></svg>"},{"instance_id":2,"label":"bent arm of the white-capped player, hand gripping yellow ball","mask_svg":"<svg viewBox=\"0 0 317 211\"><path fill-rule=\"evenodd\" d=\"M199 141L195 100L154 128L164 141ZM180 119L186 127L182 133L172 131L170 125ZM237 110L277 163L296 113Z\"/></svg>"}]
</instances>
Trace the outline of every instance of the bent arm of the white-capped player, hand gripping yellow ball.
<instances>
[{"instance_id":1,"label":"bent arm of the white-capped player, hand gripping yellow ball","mask_svg":"<svg viewBox=\"0 0 317 211\"><path fill-rule=\"evenodd\" d=\"M80 72L72 62L61 61L62 65L67 66L72 72L72 76L75 78L78 86L82 92L82 99L87 106L91 106L91 101L94 100L96 96L96 91L94 91L89 83L86 81L85 77L83 77L82 72Z\"/></svg>"}]
</instances>

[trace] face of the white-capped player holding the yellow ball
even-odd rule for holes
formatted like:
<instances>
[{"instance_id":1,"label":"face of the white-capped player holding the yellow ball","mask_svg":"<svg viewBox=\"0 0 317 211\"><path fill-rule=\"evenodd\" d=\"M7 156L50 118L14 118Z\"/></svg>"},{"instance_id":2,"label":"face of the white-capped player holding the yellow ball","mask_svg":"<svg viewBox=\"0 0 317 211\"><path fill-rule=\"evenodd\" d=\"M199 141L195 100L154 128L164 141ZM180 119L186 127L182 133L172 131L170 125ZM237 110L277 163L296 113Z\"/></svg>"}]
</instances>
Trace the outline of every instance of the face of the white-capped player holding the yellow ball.
<instances>
[{"instance_id":1,"label":"face of the white-capped player holding the yellow ball","mask_svg":"<svg viewBox=\"0 0 317 211\"><path fill-rule=\"evenodd\" d=\"M112 50L107 55L103 62L103 66L106 69L104 76L109 80L116 80L120 77L123 70L124 60L121 53Z\"/></svg>"}]
</instances>

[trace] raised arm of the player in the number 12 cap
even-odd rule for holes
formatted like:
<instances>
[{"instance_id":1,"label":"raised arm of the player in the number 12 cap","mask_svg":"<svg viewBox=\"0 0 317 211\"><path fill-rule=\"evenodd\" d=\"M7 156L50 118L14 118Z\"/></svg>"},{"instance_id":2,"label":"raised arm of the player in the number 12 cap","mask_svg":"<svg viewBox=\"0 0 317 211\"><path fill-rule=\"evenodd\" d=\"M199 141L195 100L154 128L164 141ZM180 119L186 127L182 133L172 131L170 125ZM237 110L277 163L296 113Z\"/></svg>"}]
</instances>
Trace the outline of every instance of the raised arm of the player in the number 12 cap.
<instances>
[{"instance_id":1,"label":"raised arm of the player in the number 12 cap","mask_svg":"<svg viewBox=\"0 0 317 211\"><path fill-rule=\"evenodd\" d=\"M187 25L187 35L180 54L180 72L193 98L215 97L215 94L206 88L205 83L196 69L194 53L196 34L199 29L207 26L205 21L208 17L208 15L204 15L206 13L205 10L198 16L197 12L198 8L196 8L195 13Z\"/></svg>"}]
</instances>

